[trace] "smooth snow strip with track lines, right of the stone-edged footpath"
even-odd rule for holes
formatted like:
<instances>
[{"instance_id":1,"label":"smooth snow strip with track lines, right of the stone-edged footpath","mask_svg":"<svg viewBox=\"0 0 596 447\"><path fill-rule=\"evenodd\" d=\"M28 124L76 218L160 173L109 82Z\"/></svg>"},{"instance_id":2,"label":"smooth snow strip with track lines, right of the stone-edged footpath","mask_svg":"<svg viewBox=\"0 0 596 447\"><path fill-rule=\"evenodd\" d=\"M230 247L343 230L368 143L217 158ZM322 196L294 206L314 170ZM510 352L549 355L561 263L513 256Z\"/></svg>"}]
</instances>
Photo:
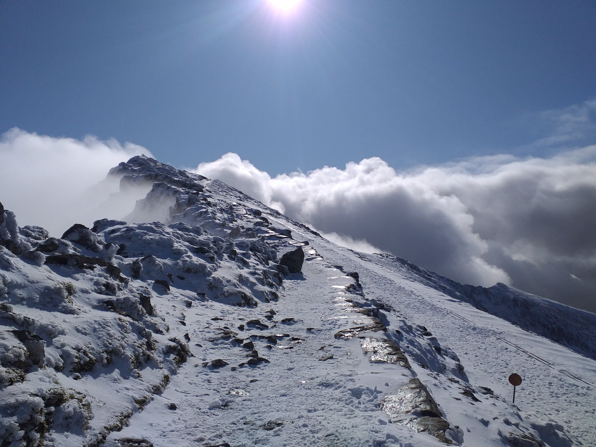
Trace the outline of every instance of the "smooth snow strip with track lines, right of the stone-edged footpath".
<instances>
[{"instance_id":1,"label":"smooth snow strip with track lines, right of the stone-edged footpath","mask_svg":"<svg viewBox=\"0 0 596 447\"><path fill-rule=\"evenodd\" d=\"M569 377L575 375L587 383L596 384L595 361L414 283L395 271L371 265L349 250L324 244L319 252L344 268L358 270L367 297L389 303L411 324L423 324L441 343L451 347L460 357L470 383L490 387L509 400L513 390L507 377L518 373L524 382L517 389L516 405L523 418L557 421L584 445L596 445L596 387ZM497 337L517 344L552 367ZM416 365L413 366L416 370ZM425 372L418 368L417 373L424 375ZM458 406L450 411L448 402L440 398L437 401L453 424L465 427L469 421L483 417L476 408L465 411ZM538 432L541 430L539 428ZM469 439L470 436L466 437ZM480 442L482 436L478 440Z\"/></svg>"}]
</instances>

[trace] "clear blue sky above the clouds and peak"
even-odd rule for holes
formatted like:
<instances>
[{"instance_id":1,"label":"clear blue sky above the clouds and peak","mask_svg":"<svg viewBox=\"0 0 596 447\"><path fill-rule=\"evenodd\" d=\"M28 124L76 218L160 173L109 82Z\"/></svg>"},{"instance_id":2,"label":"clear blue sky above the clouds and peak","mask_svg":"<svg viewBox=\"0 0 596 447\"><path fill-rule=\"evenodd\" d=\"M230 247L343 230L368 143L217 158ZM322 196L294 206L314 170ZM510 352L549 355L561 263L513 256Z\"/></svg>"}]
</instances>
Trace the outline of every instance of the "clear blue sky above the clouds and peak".
<instances>
[{"instance_id":1,"label":"clear blue sky above the clouds and peak","mask_svg":"<svg viewBox=\"0 0 596 447\"><path fill-rule=\"evenodd\" d=\"M4 1L0 132L272 175L547 156L544 111L596 97L595 29L592 1Z\"/></svg>"}]
</instances>

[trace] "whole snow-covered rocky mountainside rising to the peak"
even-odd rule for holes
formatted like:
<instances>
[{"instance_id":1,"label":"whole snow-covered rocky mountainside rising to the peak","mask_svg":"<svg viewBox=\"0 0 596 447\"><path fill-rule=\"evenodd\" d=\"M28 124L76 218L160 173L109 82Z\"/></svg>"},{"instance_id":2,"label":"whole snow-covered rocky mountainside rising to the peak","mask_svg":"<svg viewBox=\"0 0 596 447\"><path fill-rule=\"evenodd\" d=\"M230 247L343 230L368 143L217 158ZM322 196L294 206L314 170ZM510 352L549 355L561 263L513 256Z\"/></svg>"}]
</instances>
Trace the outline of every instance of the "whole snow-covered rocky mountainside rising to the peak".
<instances>
[{"instance_id":1,"label":"whole snow-covered rocky mountainside rising to the peak","mask_svg":"<svg viewBox=\"0 0 596 447\"><path fill-rule=\"evenodd\" d=\"M2 210L0 446L596 445L594 314L353 252L156 160L110 175L151 185L123 221L58 239Z\"/></svg>"}]
</instances>

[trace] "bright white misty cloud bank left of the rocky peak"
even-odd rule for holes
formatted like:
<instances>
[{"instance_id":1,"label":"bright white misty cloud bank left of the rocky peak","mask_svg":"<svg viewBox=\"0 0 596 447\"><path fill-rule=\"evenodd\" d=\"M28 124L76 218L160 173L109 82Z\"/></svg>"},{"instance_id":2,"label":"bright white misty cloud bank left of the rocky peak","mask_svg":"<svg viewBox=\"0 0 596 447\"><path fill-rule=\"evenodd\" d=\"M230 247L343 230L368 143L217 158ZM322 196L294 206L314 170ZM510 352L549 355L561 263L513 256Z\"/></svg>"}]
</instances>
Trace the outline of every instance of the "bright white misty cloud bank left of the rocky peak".
<instances>
[{"instance_id":1,"label":"bright white misty cloud bank left of the rocky peak","mask_svg":"<svg viewBox=\"0 0 596 447\"><path fill-rule=\"evenodd\" d=\"M87 136L79 141L11 129L0 136L0 201L16 213L20 225L40 225L54 236L75 222L119 218L147 191L120 195L103 206L119 190L117 179L106 175L141 153L151 155L141 146L115 140Z\"/></svg>"}]
</instances>

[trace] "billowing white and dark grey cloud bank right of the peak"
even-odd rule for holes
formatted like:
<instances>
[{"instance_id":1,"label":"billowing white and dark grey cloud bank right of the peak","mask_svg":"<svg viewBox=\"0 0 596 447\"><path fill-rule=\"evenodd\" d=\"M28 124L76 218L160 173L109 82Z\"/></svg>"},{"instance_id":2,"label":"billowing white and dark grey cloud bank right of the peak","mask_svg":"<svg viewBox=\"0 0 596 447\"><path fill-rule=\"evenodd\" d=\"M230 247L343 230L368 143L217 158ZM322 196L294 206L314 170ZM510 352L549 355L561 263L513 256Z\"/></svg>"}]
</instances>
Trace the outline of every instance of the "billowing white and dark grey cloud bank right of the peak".
<instances>
[{"instance_id":1,"label":"billowing white and dark grey cloud bank right of the peak","mask_svg":"<svg viewBox=\"0 0 596 447\"><path fill-rule=\"evenodd\" d=\"M228 153L195 172L357 250L462 283L507 283L596 311L596 146L396 172L374 157L271 178Z\"/></svg>"}]
</instances>

